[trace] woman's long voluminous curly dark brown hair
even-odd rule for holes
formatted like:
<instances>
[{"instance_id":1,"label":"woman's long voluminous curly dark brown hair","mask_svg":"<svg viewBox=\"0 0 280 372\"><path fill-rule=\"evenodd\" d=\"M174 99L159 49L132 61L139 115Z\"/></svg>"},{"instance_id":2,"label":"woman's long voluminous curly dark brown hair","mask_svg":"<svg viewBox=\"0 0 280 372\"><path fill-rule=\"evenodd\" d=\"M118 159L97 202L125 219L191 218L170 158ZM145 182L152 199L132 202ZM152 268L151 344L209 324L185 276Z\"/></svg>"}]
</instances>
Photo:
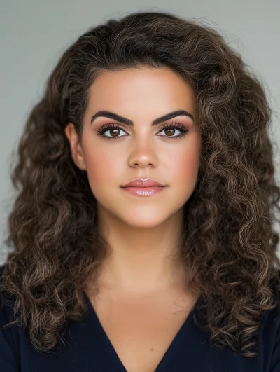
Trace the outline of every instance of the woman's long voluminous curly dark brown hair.
<instances>
[{"instance_id":1,"label":"woman's long voluminous curly dark brown hair","mask_svg":"<svg viewBox=\"0 0 280 372\"><path fill-rule=\"evenodd\" d=\"M260 316L275 308L280 284L279 234L272 228L280 188L268 135L273 111L259 78L219 32L170 13L108 20L60 57L18 146L11 177L19 194L6 239L13 249L1 292L13 296L15 322L29 330L37 350L55 347L66 319L85 315L85 283L97 278L108 245L64 128L74 123L80 140L95 78L132 67L169 67L195 92L202 154L186 202L181 257L202 293L211 344L254 357Z\"/></svg>"}]
</instances>

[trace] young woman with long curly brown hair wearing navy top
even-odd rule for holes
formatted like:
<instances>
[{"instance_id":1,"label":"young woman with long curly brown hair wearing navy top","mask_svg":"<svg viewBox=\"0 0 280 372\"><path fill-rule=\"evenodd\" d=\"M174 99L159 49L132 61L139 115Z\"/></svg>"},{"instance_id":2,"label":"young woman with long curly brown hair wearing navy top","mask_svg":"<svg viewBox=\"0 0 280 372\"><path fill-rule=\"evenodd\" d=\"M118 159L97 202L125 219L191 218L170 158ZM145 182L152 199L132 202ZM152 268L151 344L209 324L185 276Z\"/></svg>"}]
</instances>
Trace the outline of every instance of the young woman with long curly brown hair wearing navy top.
<instances>
[{"instance_id":1,"label":"young woman with long curly brown hair wearing navy top","mask_svg":"<svg viewBox=\"0 0 280 372\"><path fill-rule=\"evenodd\" d=\"M198 22L78 37L12 174L1 372L280 371L271 117Z\"/></svg>"}]
</instances>

